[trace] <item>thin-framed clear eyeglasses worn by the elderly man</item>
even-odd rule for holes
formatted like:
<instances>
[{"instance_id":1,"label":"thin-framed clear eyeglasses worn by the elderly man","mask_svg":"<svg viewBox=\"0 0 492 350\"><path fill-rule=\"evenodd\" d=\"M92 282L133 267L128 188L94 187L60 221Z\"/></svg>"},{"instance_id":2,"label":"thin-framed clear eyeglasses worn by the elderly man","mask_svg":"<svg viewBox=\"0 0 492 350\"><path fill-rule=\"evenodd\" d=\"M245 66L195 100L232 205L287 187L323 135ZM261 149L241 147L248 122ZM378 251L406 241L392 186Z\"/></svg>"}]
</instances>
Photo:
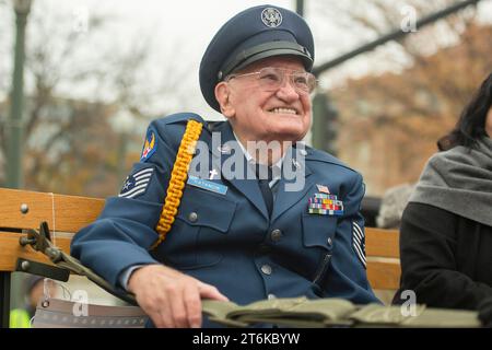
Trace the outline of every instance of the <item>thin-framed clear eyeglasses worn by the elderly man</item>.
<instances>
[{"instance_id":1,"label":"thin-framed clear eyeglasses worn by the elderly man","mask_svg":"<svg viewBox=\"0 0 492 350\"><path fill-rule=\"evenodd\" d=\"M277 91L285 82L285 77L289 77L289 82L294 86L298 94L311 94L317 84L316 77L309 72L296 72L289 69L266 67L257 72L244 73L244 74L230 74L225 78L225 81L230 81L234 78L253 77L257 75L257 81L260 86L266 91Z\"/></svg>"}]
</instances>

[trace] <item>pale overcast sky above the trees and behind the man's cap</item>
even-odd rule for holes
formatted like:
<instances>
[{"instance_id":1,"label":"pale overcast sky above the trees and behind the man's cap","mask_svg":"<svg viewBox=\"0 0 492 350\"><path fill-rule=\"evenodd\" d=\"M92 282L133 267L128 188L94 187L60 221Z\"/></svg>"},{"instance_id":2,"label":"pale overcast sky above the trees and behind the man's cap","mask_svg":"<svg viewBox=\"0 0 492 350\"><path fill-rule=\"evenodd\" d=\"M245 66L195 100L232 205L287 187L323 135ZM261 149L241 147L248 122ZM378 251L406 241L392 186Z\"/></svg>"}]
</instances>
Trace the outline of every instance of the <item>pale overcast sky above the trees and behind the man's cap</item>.
<instances>
[{"instance_id":1,"label":"pale overcast sky above the trees and behind the man's cap","mask_svg":"<svg viewBox=\"0 0 492 350\"><path fill-rule=\"evenodd\" d=\"M10 0L0 0L3 8L10 7ZM183 65L186 62L192 79L187 82L190 93L197 95L197 104L192 107L207 107L200 98L198 86L198 67L201 56L213 34L220 26L237 12L253 5L262 4L261 0L33 0L33 11L50 11L66 13L73 19L74 27L84 26L84 16L105 13L115 15L113 34L107 39L119 40L121 47L134 39L139 33L152 33L153 49L159 59L154 65ZM316 61L319 65L337 55L349 51L361 43L367 42L364 33L354 33L347 27L340 27L331 23L328 12L333 8L335 0L306 0L305 16L311 24L316 43ZM36 3L43 3L43 7ZM295 10L295 0L269 0L268 3ZM350 4L350 1L340 2ZM319 10L325 15L316 16ZM1 11L1 8L0 8ZM492 13L492 1L483 0L480 4L481 13ZM0 21L9 20L9 16L0 13ZM10 16L10 21L13 18ZM1 24L1 23L0 23ZM7 26L7 30L13 28ZM91 27L86 27L91 31ZM1 34L1 33L0 33ZM11 33L13 34L13 33ZM12 37L13 35L7 35ZM1 38L0 38L1 39ZM323 43L323 45L321 45ZM1 44L1 43L0 43ZM9 44L10 45L10 44ZM343 72L356 74L375 70L374 60L353 60L350 65L337 69L336 79L340 79ZM341 75L337 75L337 73ZM331 79L333 80L333 79ZM330 78L324 79L321 84L330 85ZM208 108L208 107L207 107ZM211 109L208 109L211 110Z\"/></svg>"}]
</instances>

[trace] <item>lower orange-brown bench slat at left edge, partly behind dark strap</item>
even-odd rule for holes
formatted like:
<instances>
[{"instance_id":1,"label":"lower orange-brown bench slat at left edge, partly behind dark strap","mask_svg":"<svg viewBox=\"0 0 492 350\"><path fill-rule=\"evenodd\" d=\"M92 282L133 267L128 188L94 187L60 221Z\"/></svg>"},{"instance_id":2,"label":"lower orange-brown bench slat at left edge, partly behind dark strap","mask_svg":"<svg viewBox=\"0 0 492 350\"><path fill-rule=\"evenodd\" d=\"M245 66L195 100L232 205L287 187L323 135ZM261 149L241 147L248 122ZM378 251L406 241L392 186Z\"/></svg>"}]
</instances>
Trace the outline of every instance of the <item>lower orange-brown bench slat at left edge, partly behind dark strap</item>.
<instances>
[{"instance_id":1,"label":"lower orange-brown bench slat at left edge, partly behind dark strap","mask_svg":"<svg viewBox=\"0 0 492 350\"><path fill-rule=\"evenodd\" d=\"M17 258L51 264L47 257L39 252L35 252L31 246L22 247L19 244L21 236L25 236L25 234L0 231L0 271L15 271ZM66 253L70 253L70 237L56 237L56 246Z\"/></svg>"}]
</instances>

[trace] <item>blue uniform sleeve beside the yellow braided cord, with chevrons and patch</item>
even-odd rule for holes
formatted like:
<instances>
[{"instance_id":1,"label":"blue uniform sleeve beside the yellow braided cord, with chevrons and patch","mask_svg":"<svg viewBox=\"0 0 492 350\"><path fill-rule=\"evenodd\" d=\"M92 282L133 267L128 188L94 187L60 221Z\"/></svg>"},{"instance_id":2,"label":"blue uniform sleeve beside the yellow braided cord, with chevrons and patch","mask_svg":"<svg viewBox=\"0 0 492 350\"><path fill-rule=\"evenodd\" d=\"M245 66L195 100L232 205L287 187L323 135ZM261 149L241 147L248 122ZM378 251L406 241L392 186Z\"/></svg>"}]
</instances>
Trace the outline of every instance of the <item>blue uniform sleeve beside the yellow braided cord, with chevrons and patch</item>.
<instances>
[{"instance_id":1,"label":"blue uniform sleeve beside the yellow braided cord, with chevrons and patch","mask_svg":"<svg viewBox=\"0 0 492 350\"><path fill-rule=\"evenodd\" d=\"M109 197L98 219L72 240L71 254L116 288L124 270L159 264L149 248L157 238L154 228L183 132L183 126L153 121L141 160L133 165L120 194Z\"/></svg>"}]
</instances>

